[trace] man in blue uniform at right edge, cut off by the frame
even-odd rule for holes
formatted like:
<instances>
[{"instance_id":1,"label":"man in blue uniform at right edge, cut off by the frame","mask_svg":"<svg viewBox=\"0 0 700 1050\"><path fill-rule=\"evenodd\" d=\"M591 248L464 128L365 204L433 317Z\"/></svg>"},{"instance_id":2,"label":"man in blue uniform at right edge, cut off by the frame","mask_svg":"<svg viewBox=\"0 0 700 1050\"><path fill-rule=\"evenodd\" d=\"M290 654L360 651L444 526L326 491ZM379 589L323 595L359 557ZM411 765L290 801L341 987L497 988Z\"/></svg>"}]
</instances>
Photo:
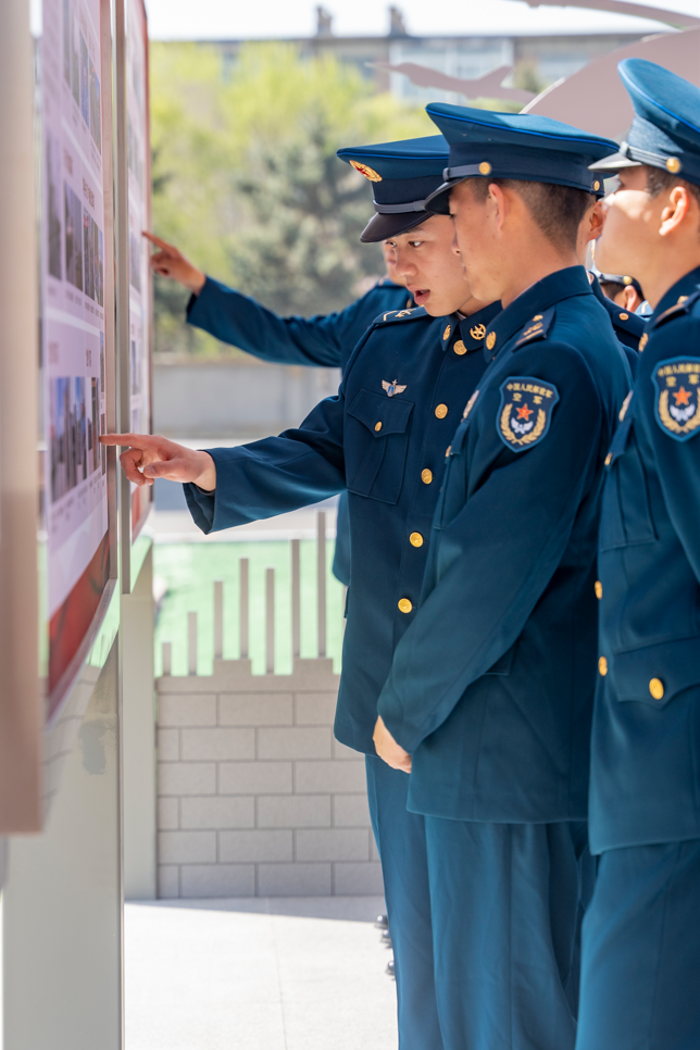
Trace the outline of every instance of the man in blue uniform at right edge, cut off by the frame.
<instances>
[{"instance_id":1,"label":"man in blue uniform at right edge, cut off by the frame","mask_svg":"<svg viewBox=\"0 0 700 1050\"><path fill-rule=\"evenodd\" d=\"M607 463L578 1050L700 1047L700 91L621 62L635 117L597 259L653 314Z\"/></svg>"}]
</instances>

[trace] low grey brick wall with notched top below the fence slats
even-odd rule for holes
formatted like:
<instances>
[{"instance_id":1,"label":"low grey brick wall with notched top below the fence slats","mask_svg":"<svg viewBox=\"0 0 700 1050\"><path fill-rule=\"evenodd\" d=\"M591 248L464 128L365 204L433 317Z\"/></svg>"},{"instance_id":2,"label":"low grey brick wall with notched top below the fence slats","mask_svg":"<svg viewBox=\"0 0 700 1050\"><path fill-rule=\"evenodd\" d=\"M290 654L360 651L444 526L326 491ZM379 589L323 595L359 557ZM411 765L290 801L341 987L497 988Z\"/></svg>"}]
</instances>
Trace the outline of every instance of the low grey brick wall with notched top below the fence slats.
<instances>
[{"instance_id":1,"label":"low grey brick wall with notched top below the fence slats","mask_svg":"<svg viewBox=\"0 0 700 1050\"><path fill-rule=\"evenodd\" d=\"M330 660L157 682L159 897L382 893L364 759L333 737Z\"/></svg>"}]
</instances>

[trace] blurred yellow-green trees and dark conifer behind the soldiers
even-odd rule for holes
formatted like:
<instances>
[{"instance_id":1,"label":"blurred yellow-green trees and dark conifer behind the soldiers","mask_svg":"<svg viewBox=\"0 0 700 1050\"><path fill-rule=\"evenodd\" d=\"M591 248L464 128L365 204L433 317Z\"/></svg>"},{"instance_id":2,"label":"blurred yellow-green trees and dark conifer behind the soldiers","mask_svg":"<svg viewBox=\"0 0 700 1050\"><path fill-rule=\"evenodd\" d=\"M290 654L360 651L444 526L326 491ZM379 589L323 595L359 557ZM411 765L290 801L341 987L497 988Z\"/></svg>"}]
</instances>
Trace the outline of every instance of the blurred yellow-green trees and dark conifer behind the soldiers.
<instances>
[{"instance_id":1,"label":"blurred yellow-green trees and dark conifer behind the soldiers","mask_svg":"<svg viewBox=\"0 0 700 1050\"><path fill-rule=\"evenodd\" d=\"M335 310L383 271L359 235L371 187L341 146L430 135L408 109L333 57L245 45L151 46L153 226L212 276L282 313ZM157 350L218 353L182 324L187 296L157 279Z\"/></svg>"}]
</instances>

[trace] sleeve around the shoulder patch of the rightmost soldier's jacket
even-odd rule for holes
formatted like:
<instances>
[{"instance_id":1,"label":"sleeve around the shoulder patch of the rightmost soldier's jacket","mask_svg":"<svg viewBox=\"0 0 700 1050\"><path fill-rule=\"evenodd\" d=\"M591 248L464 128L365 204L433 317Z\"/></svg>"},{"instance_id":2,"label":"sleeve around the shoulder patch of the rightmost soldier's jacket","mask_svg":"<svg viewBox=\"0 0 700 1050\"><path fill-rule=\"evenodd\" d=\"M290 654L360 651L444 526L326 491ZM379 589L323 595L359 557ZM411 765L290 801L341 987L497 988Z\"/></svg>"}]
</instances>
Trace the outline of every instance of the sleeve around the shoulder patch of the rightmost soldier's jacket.
<instances>
[{"instance_id":1,"label":"sleeve around the shoulder patch of the rightmost soldier's jacket","mask_svg":"<svg viewBox=\"0 0 700 1050\"><path fill-rule=\"evenodd\" d=\"M664 326L660 336L664 338L666 348L654 352L658 365L663 363L664 358L683 357L700 361L698 318L677 318L667 328ZM677 440L663 429L655 418L657 390L648 375L647 362L640 376L643 426L653 448L668 517L700 584L700 427L686 440Z\"/></svg>"}]
</instances>

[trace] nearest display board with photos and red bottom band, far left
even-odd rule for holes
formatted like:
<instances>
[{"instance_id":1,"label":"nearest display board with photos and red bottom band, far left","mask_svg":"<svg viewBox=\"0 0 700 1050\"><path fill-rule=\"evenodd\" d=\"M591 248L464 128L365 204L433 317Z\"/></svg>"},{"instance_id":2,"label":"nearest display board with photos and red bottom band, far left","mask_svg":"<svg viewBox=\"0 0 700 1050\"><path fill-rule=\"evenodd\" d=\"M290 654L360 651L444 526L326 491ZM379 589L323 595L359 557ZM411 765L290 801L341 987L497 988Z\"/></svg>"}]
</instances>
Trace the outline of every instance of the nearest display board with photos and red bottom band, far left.
<instances>
[{"instance_id":1,"label":"nearest display board with photos and red bottom band, far left","mask_svg":"<svg viewBox=\"0 0 700 1050\"><path fill-rule=\"evenodd\" d=\"M99 625L110 579L100 0L43 0L39 49L41 404L48 714ZM109 68L109 63L108 66ZM108 97L110 97L108 95ZM108 150L111 157L111 151ZM111 198L110 198L111 200ZM111 216L107 213L108 228ZM113 311L112 311L113 313ZM111 342L111 340L110 340Z\"/></svg>"}]
</instances>

